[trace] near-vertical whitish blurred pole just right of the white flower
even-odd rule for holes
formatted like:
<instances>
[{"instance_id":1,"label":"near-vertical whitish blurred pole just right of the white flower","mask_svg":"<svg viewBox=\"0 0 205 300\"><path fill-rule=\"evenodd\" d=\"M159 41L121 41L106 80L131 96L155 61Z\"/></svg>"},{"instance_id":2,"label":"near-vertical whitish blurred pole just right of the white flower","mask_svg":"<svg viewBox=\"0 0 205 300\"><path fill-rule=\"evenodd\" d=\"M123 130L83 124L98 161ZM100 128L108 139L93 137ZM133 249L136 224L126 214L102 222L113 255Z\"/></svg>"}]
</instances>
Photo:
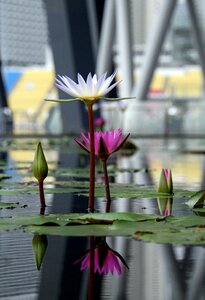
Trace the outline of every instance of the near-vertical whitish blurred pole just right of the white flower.
<instances>
[{"instance_id":1,"label":"near-vertical whitish blurred pole just right of the white flower","mask_svg":"<svg viewBox=\"0 0 205 300\"><path fill-rule=\"evenodd\" d=\"M119 59L120 76L123 84L120 88L120 97L131 95L133 85L132 41L129 2L116 0L116 30L117 56Z\"/></svg>"}]
</instances>

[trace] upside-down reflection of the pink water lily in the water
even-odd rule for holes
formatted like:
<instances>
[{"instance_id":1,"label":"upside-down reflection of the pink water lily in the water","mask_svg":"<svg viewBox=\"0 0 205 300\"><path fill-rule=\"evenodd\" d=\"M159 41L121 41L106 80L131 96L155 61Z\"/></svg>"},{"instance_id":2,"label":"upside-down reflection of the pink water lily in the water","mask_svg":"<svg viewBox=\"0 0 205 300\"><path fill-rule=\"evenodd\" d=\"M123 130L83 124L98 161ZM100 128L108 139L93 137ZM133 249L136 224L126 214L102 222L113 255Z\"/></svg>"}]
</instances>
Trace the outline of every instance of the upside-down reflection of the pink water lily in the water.
<instances>
[{"instance_id":1,"label":"upside-down reflection of the pink water lily in the water","mask_svg":"<svg viewBox=\"0 0 205 300\"><path fill-rule=\"evenodd\" d=\"M86 253L80 260L81 271L90 267L90 252ZM76 262L76 263L77 263ZM122 266L127 264L124 258L116 251L112 250L105 241L101 241L94 249L94 272L99 274L122 274Z\"/></svg>"}]
</instances>

